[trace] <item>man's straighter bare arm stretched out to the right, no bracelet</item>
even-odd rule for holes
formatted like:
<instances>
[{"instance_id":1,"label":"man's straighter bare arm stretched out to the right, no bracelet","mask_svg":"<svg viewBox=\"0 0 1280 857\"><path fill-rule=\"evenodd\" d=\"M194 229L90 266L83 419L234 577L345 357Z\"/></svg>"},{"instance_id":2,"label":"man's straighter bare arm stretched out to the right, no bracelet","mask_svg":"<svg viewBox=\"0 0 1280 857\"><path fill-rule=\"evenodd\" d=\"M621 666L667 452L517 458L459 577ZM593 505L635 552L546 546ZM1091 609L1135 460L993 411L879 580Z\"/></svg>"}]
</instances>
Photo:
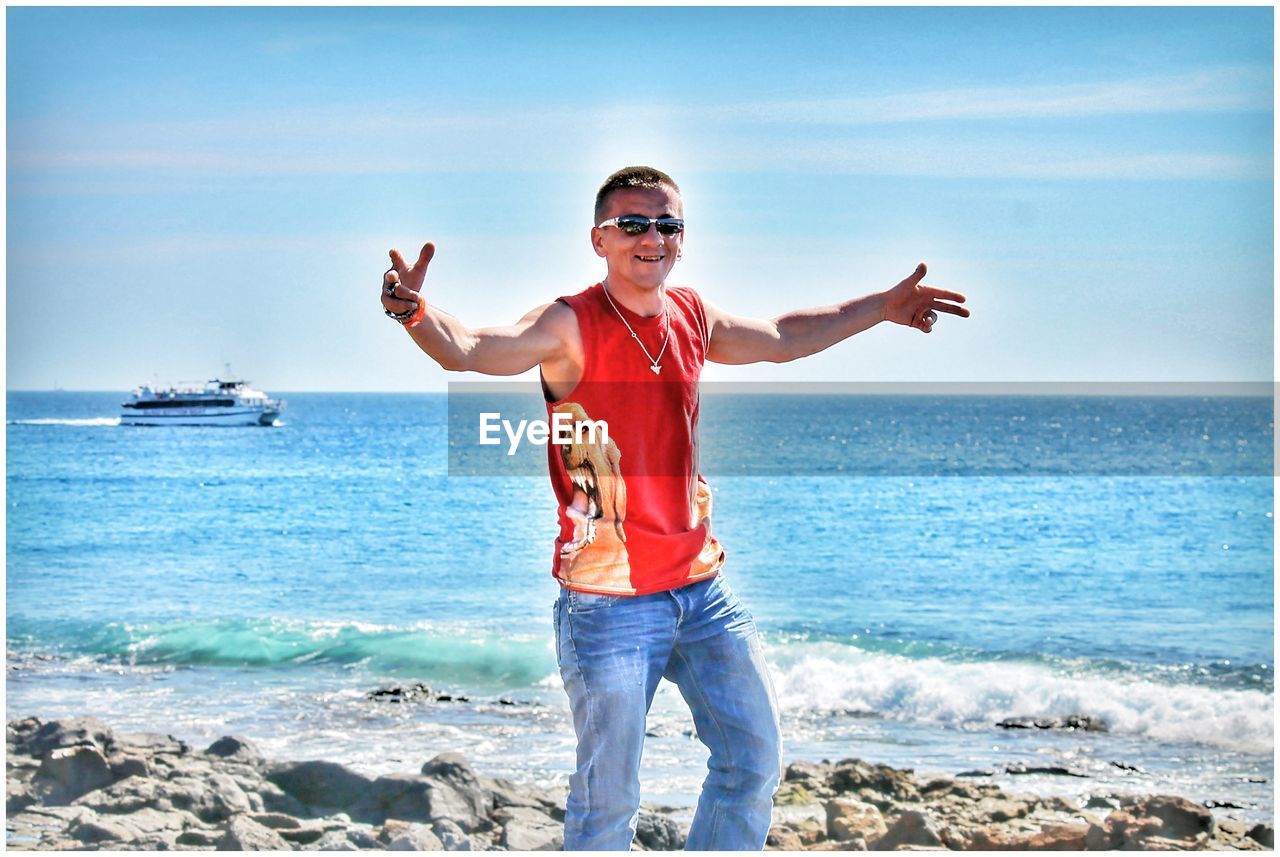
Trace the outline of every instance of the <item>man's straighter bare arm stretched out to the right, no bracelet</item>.
<instances>
[{"instance_id":1,"label":"man's straighter bare arm stretched out to the right, no bracelet","mask_svg":"<svg viewBox=\"0 0 1280 857\"><path fill-rule=\"evenodd\" d=\"M881 321L893 321L929 333L938 312L961 318L969 311L964 295L920 283L924 262L887 292L868 294L829 307L797 310L777 318L744 318L707 303L710 327L707 359L716 363L785 363L831 348Z\"/></svg>"}]
</instances>

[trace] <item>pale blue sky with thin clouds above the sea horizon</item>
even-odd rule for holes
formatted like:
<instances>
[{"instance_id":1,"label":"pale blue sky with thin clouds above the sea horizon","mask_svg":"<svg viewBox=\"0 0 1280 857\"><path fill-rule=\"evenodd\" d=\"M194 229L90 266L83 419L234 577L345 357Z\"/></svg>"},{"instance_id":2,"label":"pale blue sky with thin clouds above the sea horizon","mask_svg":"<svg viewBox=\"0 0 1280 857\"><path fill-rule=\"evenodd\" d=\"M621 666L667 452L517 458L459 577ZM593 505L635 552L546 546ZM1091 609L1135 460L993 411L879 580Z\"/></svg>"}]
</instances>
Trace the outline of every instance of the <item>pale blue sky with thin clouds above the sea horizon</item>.
<instances>
[{"instance_id":1,"label":"pale blue sky with thin clouds above the sea horizon","mask_svg":"<svg viewBox=\"0 0 1280 857\"><path fill-rule=\"evenodd\" d=\"M1270 381L1272 14L9 8L8 386L475 380L381 316L387 249L511 322L599 279L632 162L728 311L970 298L708 380Z\"/></svg>"}]
</instances>

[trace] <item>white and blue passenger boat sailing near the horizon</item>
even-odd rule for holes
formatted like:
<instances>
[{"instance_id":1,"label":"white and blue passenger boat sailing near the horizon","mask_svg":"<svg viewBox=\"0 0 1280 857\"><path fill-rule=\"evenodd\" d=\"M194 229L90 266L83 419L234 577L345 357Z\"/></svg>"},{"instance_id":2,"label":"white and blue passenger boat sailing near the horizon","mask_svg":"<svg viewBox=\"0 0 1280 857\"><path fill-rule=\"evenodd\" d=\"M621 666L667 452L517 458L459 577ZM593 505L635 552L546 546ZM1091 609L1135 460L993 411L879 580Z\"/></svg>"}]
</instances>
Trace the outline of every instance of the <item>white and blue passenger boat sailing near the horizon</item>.
<instances>
[{"instance_id":1,"label":"white and blue passenger boat sailing near the horizon","mask_svg":"<svg viewBox=\"0 0 1280 857\"><path fill-rule=\"evenodd\" d=\"M270 426L284 402L248 381L214 379L204 388L140 386L120 405L122 426Z\"/></svg>"}]
</instances>

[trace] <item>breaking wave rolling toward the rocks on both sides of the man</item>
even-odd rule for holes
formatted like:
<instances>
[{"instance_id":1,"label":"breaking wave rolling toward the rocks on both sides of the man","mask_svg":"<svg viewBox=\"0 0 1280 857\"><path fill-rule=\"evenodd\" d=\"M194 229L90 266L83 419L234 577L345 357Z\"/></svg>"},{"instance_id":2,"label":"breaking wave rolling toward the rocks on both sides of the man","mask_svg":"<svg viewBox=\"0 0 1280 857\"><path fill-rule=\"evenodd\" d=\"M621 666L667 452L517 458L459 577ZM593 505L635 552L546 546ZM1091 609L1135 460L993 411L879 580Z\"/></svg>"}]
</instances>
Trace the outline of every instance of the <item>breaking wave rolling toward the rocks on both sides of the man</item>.
<instances>
[{"instance_id":1,"label":"breaking wave rolling toward the rocks on both sides of the man","mask_svg":"<svg viewBox=\"0 0 1280 857\"><path fill-rule=\"evenodd\" d=\"M36 629L23 624L10 622L10 649L49 651L49 634L29 633ZM538 627L274 618L76 628L60 623L56 631L55 652L87 657L104 668L291 670L328 665L476 693L558 683L549 629ZM1245 752L1271 752L1275 743L1270 688L1197 683L1188 680L1187 670L1167 665L1050 656L1016 660L1000 652L983 659L972 650L940 656L937 645L904 643L902 650L908 649L914 652L765 636L778 700L791 712L854 712L959 728L989 728L1006 718L1085 714L1105 720L1114 734L1157 742ZM20 666L46 665L27 659Z\"/></svg>"}]
</instances>

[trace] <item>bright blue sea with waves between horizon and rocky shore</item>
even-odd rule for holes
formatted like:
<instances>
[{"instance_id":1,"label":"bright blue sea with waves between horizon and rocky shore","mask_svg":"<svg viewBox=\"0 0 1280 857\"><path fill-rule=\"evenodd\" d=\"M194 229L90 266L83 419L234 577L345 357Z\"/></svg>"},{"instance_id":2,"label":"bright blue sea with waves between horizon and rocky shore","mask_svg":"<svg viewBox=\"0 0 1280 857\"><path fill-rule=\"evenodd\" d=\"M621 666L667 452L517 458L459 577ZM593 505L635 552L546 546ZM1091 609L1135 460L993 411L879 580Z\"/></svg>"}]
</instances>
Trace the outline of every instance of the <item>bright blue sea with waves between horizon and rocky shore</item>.
<instances>
[{"instance_id":1,"label":"bright blue sea with waves between horizon and rocky shore","mask_svg":"<svg viewBox=\"0 0 1280 857\"><path fill-rule=\"evenodd\" d=\"M545 475L461 467L444 393L279 395L274 426L206 428L8 393L6 718L564 787ZM1271 822L1270 394L797 386L704 395L701 422L788 762ZM448 698L375 693L417 683ZM1105 728L1000 725L1070 715ZM664 682L644 799L687 814L705 764Z\"/></svg>"}]
</instances>

